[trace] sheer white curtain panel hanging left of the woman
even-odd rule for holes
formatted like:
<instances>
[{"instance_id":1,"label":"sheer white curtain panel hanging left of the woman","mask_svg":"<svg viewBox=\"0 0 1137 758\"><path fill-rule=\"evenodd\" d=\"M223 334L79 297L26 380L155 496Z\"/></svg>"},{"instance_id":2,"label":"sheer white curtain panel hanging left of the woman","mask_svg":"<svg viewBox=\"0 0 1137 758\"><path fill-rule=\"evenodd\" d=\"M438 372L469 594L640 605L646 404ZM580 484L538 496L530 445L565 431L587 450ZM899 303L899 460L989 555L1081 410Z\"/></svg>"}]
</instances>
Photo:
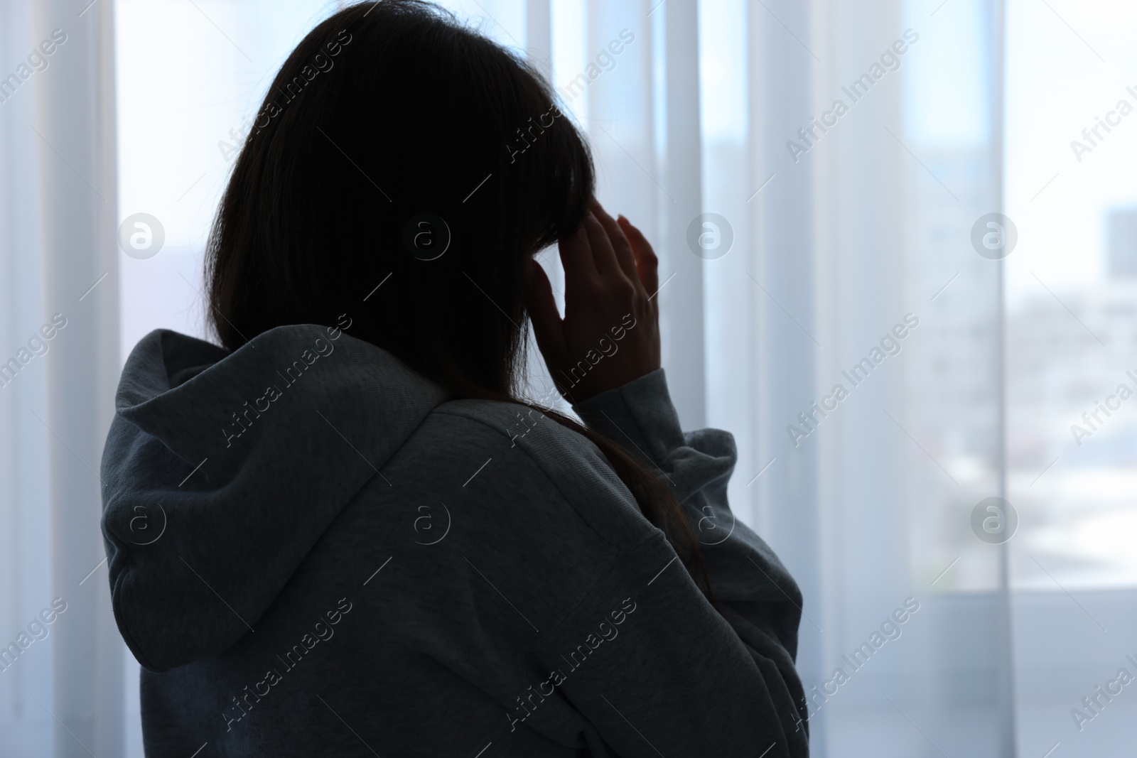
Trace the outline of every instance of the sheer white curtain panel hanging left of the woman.
<instances>
[{"instance_id":1,"label":"sheer white curtain panel hanging left of the woman","mask_svg":"<svg viewBox=\"0 0 1137 758\"><path fill-rule=\"evenodd\" d=\"M61 0L2 15L0 744L119 755L98 475L119 368L113 15Z\"/></svg>"}]
</instances>

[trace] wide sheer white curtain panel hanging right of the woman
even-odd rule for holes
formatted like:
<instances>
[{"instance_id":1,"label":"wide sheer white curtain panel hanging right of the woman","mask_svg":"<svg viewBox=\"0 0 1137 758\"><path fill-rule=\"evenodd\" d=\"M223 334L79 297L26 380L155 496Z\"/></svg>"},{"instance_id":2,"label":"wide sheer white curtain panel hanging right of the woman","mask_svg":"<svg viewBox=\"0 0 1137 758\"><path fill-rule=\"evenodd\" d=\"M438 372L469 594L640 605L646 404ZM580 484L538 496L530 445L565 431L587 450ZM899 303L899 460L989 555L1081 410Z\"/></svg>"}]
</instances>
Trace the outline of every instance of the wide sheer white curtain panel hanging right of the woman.
<instances>
[{"instance_id":1,"label":"wide sheer white curtain panel hanging right of the woman","mask_svg":"<svg viewBox=\"0 0 1137 758\"><path fill-rule=\"evenodd\" d=\"M1004 548L970 533L970 507L958 520L1003 494L998 264L966 243L999 209L998 9L956 5L939 18L901 2L586 10L588 50L624 26L650 47L653 66L597 74L576 115L601 201L654 224L684 425L735 433L736 513L805 592L798 666L819 756L1014 755ZM557 17L554 49L579 45ZM941 106L971 108L961 139L920 98L953 77L963 85L939 98L979 98ZM866 357L872 374L846 378ZM873 634L880 645L846 663Z\"/></svg>"}]
</instances>

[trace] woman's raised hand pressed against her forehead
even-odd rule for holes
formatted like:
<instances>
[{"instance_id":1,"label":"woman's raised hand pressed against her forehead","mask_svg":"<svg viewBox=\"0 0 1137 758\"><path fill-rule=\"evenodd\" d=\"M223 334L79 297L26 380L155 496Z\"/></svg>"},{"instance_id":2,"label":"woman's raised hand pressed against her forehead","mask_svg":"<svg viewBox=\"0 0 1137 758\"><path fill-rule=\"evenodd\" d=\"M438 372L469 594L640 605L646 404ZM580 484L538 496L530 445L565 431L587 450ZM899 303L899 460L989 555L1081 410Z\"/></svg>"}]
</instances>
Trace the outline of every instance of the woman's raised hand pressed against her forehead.
<instances>
[{"instance_id":1,"label":"woman's raised hand pressed against her forehead","mask_svg":"<svg viewBox=\"0 0 1137 758\"><path fill-rule=\"evenodd\" d=\"M592 200L581 227L557 247L565 269L565 317L536 260L530 261L529 315L561 394L576 403L658 368L658 259L640 231Z\"/></svg>"}]
</instances>

